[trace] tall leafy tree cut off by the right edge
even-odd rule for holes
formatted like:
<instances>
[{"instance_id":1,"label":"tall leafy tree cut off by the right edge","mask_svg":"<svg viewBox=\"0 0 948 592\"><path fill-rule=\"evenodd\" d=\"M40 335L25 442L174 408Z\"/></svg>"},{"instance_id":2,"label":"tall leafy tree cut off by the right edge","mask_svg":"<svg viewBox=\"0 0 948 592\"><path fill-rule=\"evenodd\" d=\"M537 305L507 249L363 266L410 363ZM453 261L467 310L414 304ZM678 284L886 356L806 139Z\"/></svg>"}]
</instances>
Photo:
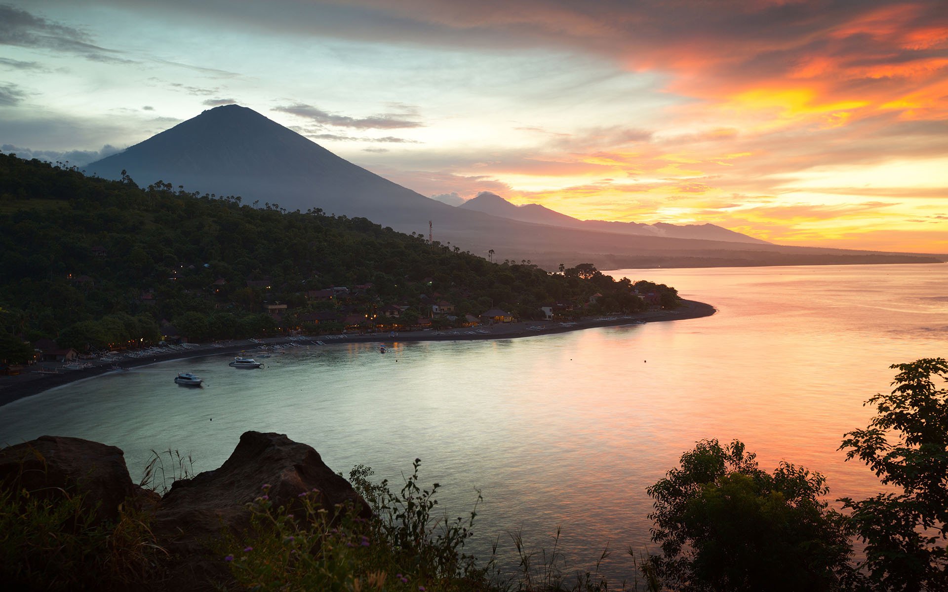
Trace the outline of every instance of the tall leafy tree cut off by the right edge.
<instances>
[{"instance_id":1,"label":"tall leafy tree cut off by the right edge","mask_svg":"<svg viewBox=\"0 0 948 592\"><path fill-rule=\"evenodd\" d=\"M902 493L855 501L844 497L866 566L886 590L948 590L948 380L944 358L924 358L897 368L890 394L866 404L879 412L865 430L848 432L840 450L859 457Z\"/></svg>"}]
</instances>

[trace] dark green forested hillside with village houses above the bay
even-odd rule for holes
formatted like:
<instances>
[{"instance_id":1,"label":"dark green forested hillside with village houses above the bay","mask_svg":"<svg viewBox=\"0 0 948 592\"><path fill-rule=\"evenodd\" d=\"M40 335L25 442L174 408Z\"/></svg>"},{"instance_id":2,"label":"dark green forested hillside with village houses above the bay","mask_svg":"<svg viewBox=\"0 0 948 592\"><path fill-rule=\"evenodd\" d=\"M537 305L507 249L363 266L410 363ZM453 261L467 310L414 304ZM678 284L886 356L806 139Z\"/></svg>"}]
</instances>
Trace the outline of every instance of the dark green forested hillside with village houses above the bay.
<instances>
[{"instance_id":1,"label":"dark green forested hillside with village houses above the bay","mask_svg":"<svg viewBox=\"0 0 948 592\"><path fill-rule=\"evenodd\" d=\"M210 339L274 332L327 309L380 316L401 305L417 318L436 300L461 316L501 308L520 318L553 303L576 314L644 306L629 280L592 265L550 274L364 218L214 197L0 155L0 331L81 349L154 341L169 323ZM309 297L330 286L361 288L344 301ZM283 323L264 314L276 302L287 305Z\"/></svg>"}]
</instances>

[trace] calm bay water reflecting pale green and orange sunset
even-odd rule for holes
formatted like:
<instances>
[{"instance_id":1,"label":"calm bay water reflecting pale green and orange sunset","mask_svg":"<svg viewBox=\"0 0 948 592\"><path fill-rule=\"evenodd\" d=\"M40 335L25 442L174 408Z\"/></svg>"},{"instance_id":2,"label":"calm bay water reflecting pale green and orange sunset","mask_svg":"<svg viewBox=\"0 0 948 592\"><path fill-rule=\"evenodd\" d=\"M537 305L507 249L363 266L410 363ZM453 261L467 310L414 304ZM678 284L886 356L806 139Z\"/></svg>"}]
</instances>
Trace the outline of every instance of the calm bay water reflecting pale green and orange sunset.
<instances>
[{"instance_id":1,"label":"calm bay water reflecting pale green and orange sunset","mask_svg":"<svg viewBox=\"0 0 948 592\"><path fill-rule=\"evenodd\" d=\"M401 482L412 459L443 485L452 515L483 493L476 548L508 531L588 568L608 542L651 547L646 488L696 440L739 439L829 477L830 496L876 493L844 462L863 402L888 366L948 356L948 265L652 269L609 272L678 288L710 317L523 339L312 346L262 370L227 357L169 362L64 386L0 407L0 442L44 434L114 444L133 478L150 451L219 466L245 430L315 447L334 470L357 463ZM390 342L386 342L390 344ZM176 372L206 380L176 386Z\"/></svg>"}]
</instances>

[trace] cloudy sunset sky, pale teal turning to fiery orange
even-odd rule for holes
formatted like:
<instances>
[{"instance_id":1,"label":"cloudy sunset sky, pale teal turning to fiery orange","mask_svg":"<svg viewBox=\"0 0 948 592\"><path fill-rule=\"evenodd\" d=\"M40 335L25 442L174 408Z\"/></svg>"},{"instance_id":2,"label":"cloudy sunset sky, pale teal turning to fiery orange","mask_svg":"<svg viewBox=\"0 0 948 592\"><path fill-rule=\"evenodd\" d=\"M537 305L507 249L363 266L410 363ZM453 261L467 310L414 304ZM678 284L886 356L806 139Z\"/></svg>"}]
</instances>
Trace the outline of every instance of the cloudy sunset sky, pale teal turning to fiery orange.
<instances>
[{"instance_id":1,"label":"cloudy sunset sky, pale teal turning to fiery orange","mask_svg":"<svg viewBox=\"0 0 948 592\"><path fill-rule=\"evenodd\" d=\"M948 253L948 2L0 0L0 148L238 103L448 203Z\"/></svg>"}]
</instances>

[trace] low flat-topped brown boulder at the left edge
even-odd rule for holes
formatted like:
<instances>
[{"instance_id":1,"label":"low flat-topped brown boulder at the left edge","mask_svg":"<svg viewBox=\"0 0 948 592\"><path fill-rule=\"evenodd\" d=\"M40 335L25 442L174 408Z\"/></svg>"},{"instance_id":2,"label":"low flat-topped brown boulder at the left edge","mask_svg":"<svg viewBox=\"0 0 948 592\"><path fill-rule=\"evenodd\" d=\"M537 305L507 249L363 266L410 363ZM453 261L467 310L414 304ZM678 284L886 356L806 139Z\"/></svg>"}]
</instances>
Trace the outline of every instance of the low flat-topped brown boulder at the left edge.
<instances>
[{"instance_id":1,"label":"low flat-topped brown boulder at the left edge","mask_svg":"<svg viewBox=\"0 0 948 592\"><path fill-rule=\"evenodd\" d=\"M98 522L117 519L119 505L137 493L120 449L58 436L0 450L0 483L33 494L82 494L83 507L95 509Z\"/></svg>"}]
</instances>

